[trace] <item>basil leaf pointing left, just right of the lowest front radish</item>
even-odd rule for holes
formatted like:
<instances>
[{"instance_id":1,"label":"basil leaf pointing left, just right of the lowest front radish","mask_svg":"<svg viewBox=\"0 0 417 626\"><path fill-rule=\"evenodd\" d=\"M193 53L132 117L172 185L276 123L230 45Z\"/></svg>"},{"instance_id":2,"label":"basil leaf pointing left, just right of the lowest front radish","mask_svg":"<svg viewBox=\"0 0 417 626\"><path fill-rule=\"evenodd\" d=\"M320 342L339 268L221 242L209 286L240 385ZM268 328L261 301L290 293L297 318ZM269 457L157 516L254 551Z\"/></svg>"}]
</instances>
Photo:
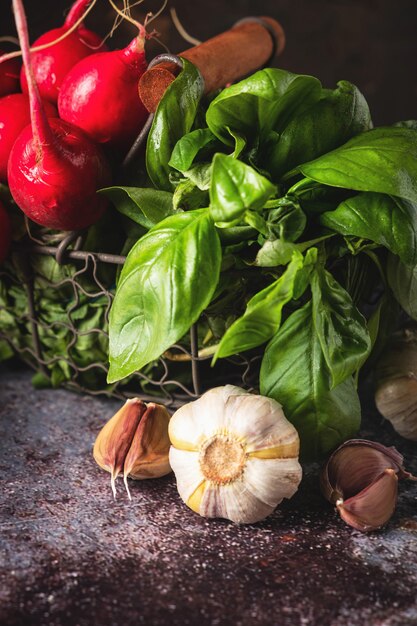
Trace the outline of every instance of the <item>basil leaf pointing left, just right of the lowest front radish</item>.
<instances>
[{"instance_id":1,"label":"basil leaf pointing left, just right of the lowest front radish","mask_svg":"<svg viewBox=\"0 0 417 626\"><path fill-rule=\"evenodd\" d=\"M139 187L106 187L99 193L107 196L115 208L148 230L175 213L172 193Z\"/></svg>"}]
</instances>

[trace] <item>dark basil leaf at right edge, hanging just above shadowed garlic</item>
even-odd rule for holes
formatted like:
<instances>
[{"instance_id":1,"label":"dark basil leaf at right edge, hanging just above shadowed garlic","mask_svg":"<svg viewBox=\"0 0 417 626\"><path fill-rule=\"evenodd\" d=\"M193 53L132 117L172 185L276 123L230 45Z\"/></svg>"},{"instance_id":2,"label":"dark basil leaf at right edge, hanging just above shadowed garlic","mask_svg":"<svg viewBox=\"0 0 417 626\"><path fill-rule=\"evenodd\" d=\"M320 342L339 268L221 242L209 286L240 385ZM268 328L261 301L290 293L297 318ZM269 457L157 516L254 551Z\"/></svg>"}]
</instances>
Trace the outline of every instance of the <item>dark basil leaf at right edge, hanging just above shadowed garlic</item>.
<instances>
[{"instance_id":1,"label":"dark basil leaf at right edge, hanging just above shadowed garlic","mask_svg":"<svg viewBox=\"0 0 417 626\"><path fill-rule=\"evenodd\" d=\"M389 254L387 280L398 304L417 320L417 264L405 265L398 256Z\"/></svg>"}]
</instances>

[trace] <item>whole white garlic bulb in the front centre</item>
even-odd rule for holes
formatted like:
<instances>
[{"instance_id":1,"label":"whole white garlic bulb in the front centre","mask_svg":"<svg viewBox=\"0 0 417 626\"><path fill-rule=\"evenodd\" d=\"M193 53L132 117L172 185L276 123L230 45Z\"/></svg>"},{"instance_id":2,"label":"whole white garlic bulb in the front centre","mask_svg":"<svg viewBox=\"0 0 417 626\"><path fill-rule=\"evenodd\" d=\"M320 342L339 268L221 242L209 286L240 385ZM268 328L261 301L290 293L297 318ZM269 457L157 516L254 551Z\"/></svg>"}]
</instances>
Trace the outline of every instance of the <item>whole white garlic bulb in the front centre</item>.
<instances>
[{"instance_id":1,"label":"whole white garlic bulb in the front centre","mask_svg":"<svg viewBox=\"0 0 417 626\"><path fill-rule=\"evenodd\" d=\"M258 522L297 491L298 434L271 398L216 387L174 413L169 437L179 494L203 517Z\"/></svg>"}]
</instances>

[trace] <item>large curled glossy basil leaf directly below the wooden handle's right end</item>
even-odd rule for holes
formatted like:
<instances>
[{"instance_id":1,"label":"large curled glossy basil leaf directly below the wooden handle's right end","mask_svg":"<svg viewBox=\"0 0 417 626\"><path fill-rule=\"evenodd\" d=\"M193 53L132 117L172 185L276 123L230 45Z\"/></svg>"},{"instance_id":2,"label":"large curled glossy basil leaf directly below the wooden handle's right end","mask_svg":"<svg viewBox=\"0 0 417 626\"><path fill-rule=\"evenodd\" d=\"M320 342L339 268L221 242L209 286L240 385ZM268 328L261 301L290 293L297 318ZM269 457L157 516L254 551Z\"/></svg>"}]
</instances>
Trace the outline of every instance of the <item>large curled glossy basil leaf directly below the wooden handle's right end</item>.
<instances>
[{"instance_id":1,"label":"large curled glossy basil leaf directly below the wooden handle's right end","mask_svg":"<svg viewBox=\"0 0 417 626\"><path fill-rule=\"evenodd\" d=\"M207 109L210 130L227 145L231 133L257 141L269 131L279 131L287 121L321 94L321 84L312 76L267 68L223 89Z\"/></svg>"}]
</instances>

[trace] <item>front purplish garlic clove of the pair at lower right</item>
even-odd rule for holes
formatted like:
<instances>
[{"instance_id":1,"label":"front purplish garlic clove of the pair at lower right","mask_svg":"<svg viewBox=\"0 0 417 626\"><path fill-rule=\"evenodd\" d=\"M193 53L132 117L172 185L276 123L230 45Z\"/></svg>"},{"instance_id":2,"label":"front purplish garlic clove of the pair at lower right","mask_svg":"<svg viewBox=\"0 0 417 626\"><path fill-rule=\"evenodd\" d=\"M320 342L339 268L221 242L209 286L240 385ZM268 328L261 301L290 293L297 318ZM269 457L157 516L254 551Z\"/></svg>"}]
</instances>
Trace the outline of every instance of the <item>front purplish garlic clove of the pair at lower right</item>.
<instances>
[{"instance_id":1,"label":"front purplish garlic clove of the pair at lower right","mask_svg":"<svg viewBox=\"0 0 417 626\"><path fill-rule=\"evenodd\" d=\"M398 478L386 469L369 487L348 500L336 503L340 517L362 532L377 530L392 517L397 503Z\"/></svg>"}]
</instances>

